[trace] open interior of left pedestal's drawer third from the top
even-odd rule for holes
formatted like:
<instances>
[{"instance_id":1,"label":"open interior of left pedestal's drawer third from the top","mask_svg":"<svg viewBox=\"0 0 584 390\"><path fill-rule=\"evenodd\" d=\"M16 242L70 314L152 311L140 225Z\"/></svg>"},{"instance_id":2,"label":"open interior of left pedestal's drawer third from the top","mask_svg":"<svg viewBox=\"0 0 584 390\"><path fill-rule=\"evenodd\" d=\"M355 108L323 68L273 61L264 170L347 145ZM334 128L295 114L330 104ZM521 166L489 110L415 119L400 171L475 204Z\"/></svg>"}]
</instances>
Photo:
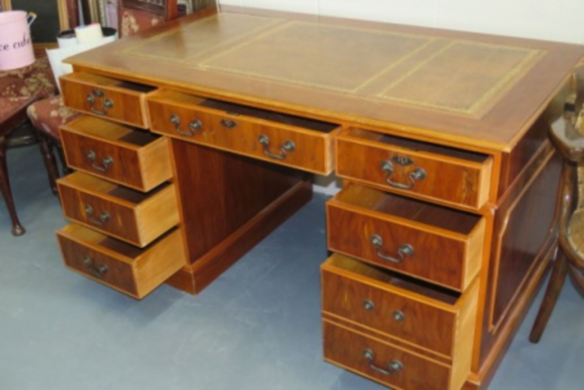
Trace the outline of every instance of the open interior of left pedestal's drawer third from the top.
<instances>
[{"instance_id":1,"label":"open interior of left pedestal's drawer third from the top","mask_svg":"<svg viewBox=\"0 0 584 390\"><path fill-rule=\"evenodd\" d=\"M64 185L67 185L68 187L73 187L84 192L89 192L92 194L107 194L121 202L132 203L132 205L138 205L146 201L170 185L168 182L166 182L153 189L152 191L145 193L117 185L110 181L102 180L83 172L75 172L71 175L68 175L67 177L62 178L60 182Z\"/></svg>"}]
</instances>

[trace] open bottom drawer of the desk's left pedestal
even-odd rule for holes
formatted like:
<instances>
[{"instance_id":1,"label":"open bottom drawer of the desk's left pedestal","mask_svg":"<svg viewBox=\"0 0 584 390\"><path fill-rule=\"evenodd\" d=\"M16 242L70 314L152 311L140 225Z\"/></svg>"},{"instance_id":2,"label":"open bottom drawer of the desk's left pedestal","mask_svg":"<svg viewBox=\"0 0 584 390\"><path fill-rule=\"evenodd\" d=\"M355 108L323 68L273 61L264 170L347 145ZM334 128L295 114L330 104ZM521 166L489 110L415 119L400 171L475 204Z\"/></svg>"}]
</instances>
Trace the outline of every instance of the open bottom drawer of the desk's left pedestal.
<instances>
[{"instance_id":1,"label":"open bottom drawer of the desk's left pedestal","mask_svg":"<svg viewBox=\"0 0 584 390\"><path fill-rule=\"evenodd\" d=\"M178 229L144 249L75 224L57 237L68 268L138 299L186 265Z\"/></svg>"}]
</instances>

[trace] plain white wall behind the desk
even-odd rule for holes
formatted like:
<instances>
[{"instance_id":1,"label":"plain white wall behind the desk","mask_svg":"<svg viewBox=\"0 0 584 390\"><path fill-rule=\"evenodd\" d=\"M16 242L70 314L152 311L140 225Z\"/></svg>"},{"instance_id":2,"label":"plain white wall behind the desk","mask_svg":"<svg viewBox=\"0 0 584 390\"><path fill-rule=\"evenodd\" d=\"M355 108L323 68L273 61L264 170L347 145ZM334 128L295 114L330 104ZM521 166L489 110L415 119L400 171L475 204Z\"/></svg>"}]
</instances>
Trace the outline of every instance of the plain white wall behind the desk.
<instances>
[{"instance_id":1,"label":"plain white wall behind the desk","mask_svg":"<svg viewBox=\"0 0 584 390\"><path fill-rule=\"evenodd\" d=\"M220 4L584 44L584 0L219 0ZM315 191L334 194L335 177Z\"/></svg>"}]
</instances>

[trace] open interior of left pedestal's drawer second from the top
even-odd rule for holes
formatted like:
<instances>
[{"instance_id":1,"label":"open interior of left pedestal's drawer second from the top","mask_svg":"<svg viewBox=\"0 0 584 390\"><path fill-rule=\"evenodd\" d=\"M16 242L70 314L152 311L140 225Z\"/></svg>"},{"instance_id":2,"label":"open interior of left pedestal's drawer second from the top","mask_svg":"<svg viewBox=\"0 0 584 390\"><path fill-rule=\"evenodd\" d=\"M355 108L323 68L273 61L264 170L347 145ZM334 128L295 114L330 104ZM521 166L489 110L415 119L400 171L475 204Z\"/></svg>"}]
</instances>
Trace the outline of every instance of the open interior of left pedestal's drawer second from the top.
<instances>
[{"instance_id":1,"label":"open interior of left pedestal's drawer second from the top","mask_svg":"<svg viewBox=\"0 0 584 390\"><path fill-rule=\"evenodd\" d=\"M95 118L84 116L66 125L67 129L74 129L76 133L100 140L114 141L130 147L142 147L157 140L160 136L134 127L119 125Z\"/></svg>"}]
</instances>

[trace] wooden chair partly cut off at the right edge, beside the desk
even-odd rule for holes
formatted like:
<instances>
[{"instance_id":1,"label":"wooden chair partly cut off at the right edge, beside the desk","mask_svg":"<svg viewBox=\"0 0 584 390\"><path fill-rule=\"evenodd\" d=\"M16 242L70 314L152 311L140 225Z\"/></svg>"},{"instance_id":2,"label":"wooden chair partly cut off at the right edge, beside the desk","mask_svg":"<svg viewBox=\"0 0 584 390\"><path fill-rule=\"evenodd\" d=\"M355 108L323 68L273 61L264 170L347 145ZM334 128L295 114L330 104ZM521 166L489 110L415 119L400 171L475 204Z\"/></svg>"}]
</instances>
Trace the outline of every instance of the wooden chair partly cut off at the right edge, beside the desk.
<instances>
[{"instance_id":1,"label":"wooden chair partly cut off at the right edge, beside the desk","mask_svg":"<svg viewBox=\"0 0 584 390\"><path fill-rule=\"evenodd\" d=\"M584 294L584 65L575 72L566 102L564 127L554 127L550 137L564 158L559 215L558 256L529 340L540 341L555 302L570 275Z\"/></svg>"}]
</instances>

